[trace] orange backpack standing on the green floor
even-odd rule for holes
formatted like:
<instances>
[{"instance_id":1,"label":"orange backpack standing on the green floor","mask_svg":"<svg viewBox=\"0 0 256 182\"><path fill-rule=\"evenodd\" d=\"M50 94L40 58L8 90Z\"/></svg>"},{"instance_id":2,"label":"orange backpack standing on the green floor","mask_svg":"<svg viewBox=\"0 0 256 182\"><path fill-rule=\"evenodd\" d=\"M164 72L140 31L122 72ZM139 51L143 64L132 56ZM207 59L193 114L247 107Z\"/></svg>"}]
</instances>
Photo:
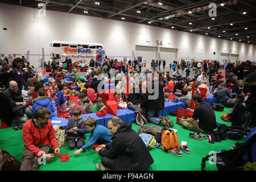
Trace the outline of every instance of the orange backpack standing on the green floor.
<instances>
[{"instance_id":1,"label":"orange backpack standing on the green floor","mask_svg":"<svg viewBox=\"0 0 256 182\"><path fill-rule=\"evenodd\" d=\"M172 130L164 130L162 133L162 149L167 152L168 149L180 148L177 133Z\"/></svg>"}]
</instances>

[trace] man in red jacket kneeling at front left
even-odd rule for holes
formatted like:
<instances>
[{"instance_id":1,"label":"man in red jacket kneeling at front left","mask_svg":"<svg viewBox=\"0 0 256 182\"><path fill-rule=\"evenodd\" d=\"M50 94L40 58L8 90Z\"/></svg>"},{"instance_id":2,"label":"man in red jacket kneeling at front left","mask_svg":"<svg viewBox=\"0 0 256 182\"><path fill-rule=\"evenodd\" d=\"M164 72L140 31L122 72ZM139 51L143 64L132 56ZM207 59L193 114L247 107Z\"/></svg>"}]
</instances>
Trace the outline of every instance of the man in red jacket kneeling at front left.
<instances>
[{"instance_id":1,"label":"man in red jacket kneeling at front left","mask_svg":"<svg viewBox=\"0 0 256 182\"><path fill-rule=\"evenodd\" d=\"M50 114L46 107L40 107L35 111L34 117L24 123L22 134L25 147L20 171L36 171L42 164L42 159L43 163L45 160L51 160L53 156L47 154L51 147L60 154L55 130L48 121Z\"/></svg>"}]
</instances>

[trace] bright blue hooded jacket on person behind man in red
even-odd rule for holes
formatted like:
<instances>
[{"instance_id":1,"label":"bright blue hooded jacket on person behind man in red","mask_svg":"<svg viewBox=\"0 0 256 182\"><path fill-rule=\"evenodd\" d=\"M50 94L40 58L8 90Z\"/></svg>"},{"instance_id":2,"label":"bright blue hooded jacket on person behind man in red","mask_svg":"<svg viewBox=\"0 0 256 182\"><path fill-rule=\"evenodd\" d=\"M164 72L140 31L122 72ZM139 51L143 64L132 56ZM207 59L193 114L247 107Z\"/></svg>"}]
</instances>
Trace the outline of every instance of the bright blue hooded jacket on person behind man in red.
<instances>
[{"instance_id":1,"label":"bright blue hooded jacket on person behind man in red","mask_svg":"<svg viewBox=\"0 0 256 182\"><path fill-rule=\"evenodd\" d=\"M52 104L51 97L43 96L43 97L37 97L34 100L32 100L32 110L31 114L34 114L36 110L38 110L40 107L46 107L50 112L51 115L49 118L57 117L55 115L55 107Z\"/></svg>"}]
</instances>

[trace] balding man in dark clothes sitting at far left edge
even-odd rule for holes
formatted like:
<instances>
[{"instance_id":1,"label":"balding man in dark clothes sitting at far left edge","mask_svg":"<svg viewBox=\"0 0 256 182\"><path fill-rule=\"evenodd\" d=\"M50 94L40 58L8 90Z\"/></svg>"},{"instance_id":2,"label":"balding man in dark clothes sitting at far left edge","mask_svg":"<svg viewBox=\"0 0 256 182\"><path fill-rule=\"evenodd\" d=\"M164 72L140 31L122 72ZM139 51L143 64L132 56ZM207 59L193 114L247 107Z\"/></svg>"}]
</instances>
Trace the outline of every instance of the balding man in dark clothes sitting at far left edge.
<instances>
[{"instance_id":1,"label":"balding man in dark clothes sitting at far left edge","mask_svg":"<svg viewBox=\"0 0 256 182\"><path fill-rule=\"evenodd\" d=\"M25 111L26 107L28 107L28 104L26 101L24 101L20 90L18 89L17 82L10 81L9 88L6 89L3 94L5 94L9 98L13 110L13 119L11 120L11 122L13 123L13 129L22 129L22 125L20 122L27 121Z\"/></svg>"}]
</instances>

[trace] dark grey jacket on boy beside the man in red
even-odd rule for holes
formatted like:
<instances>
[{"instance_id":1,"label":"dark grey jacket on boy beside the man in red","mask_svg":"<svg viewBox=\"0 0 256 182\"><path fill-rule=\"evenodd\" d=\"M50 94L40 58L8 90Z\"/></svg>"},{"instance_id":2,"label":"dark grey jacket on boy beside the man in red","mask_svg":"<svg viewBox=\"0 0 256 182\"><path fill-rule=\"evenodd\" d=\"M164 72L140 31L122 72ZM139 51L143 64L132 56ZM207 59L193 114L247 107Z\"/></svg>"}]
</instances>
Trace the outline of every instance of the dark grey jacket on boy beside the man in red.
<instances>
[{"instance_id":1,"label":"dark grey jacket on boy beside the man in red","mask_svg":"<svg viewBox=\"0 0 256 182\"><path fill-rule=\"evenodd\" d=\"M74 118L69 118L68 125L65 130L65 134L68 134L68 139L71 139L72 137L82 137L86 139L84 123L85 121L82 117L77 121L75 121ZM77 127L77 129L79 130L73 133L69 133L69 130L72 129L73 127Z\"/></svg>"}]
</instances>

